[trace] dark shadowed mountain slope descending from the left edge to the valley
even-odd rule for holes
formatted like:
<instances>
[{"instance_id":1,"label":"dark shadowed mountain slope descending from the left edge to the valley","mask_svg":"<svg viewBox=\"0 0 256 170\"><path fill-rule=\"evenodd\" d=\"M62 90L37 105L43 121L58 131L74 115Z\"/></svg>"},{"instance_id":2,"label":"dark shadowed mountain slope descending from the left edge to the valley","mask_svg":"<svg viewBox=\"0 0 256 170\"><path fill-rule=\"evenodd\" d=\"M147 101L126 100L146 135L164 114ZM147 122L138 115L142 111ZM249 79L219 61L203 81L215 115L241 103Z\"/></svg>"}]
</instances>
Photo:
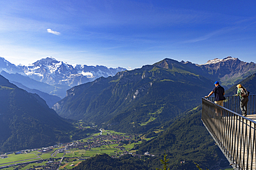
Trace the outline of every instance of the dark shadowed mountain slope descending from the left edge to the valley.
<instances>
[{"instance_id":1,"label":"dark shadowed mountain slope descending from the left edge to the valley","mask_svg":"<svg viewBox=\"0 0 256 170\"><path fill-rule=\"evenodd\" d=\"M0 76L0 152L69 141L73 125L58 116L37 94L19 89Z\"/></svg>"}]
</instances>

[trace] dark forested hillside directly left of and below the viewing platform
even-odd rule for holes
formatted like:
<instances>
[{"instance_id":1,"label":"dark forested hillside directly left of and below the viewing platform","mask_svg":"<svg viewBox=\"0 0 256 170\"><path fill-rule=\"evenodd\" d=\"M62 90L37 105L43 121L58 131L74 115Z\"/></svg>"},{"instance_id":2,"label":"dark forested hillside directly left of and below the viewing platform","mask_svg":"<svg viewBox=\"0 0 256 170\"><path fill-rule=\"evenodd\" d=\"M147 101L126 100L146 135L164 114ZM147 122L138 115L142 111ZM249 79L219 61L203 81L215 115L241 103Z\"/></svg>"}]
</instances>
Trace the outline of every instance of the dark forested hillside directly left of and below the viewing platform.
<instances>
[{"instance_id":1,"label":"dark forested hillside directly left of and below the viewing platform","mask_svg":"<svg viewBox=\"0 0 256 170\"><path fill-rule=\"evenodd\" d=\"M158 156L163 155L165 151L173 166L172 169L179 167L182 160L197 162L202 167L222 164L221 158L226 160L201 122L201 106L177 117L174 123L157 138L138 146L138 153L142 154L146 151ZM225 162L227 166L228 161Z\"/></svg>"}]
</instances>

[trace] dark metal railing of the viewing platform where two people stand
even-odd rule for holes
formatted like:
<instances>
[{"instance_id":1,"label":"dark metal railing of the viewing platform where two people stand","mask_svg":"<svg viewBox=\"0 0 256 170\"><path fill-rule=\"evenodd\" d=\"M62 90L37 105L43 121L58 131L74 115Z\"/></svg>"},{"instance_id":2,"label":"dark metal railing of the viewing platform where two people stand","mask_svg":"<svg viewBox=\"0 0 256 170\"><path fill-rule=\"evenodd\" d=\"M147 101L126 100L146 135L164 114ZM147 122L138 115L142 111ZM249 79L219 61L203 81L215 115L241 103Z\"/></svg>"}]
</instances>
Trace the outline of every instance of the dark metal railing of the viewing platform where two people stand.
<instances>
[{"instance_id":1,"label":"dark metal railing of the viewing platform where two people stand","mask_svg":"<svg viewBox=\"0 0 256 170\"><path fill-rule=\"evenodd\" d=\"M223 107L202 98L201 120L234 169L256 169L256 122L249 118L256 102L249 97L248 117L241 116L239 96L226 96Z\"/></svg>"}]
</instances>

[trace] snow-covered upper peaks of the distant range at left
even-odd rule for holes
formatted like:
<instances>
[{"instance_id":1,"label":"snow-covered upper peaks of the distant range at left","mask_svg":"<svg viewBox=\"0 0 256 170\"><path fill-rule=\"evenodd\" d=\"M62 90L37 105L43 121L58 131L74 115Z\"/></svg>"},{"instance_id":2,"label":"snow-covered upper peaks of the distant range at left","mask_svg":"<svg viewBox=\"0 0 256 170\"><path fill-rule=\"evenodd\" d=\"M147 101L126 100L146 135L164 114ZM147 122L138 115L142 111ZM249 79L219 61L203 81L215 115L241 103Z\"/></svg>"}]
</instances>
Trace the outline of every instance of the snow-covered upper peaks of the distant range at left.
<instances>
[{"instance_id":1,"label":"snow-covered upper peaks of the distant range at left","mask_svg":"<svg viewBox=\"0 0 256 170\"><path fill-rule=\"evenodd\" d=\"M26 75L48 85L68 85L73 87L94 81L101 76L114 76L117 72L125 71L126 69L122 67L108 68L102 65L70 65L63 61L57 61L52 57L47 57L28 66L13 65L0 58L0 70Z\"/></svg>"}]
</instances>

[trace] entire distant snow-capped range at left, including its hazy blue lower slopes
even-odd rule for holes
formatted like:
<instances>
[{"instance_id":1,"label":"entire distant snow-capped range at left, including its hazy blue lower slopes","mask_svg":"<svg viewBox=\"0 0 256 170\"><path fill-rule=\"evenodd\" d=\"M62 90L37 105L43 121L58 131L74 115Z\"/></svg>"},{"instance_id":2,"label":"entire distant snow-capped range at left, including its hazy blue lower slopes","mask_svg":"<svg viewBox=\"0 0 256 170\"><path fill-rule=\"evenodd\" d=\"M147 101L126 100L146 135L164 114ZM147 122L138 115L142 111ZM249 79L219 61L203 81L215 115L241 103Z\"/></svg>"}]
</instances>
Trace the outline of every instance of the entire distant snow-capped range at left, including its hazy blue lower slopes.
<instances>
[{"instance_id":1,"label":"entire distant snow-capped range at left, including its hazy blue lower slopes","mask_svg":"<svg viewBox=\"0 0 256 170\"><path fill-rule=\"evenodd\" d=\"M28 66L14 65L0 57L0 72L4 71L5 73L3 74L5 74L5 76L7 76L7 74L16 74L16 78L8 76L9 81L12 81L13 83L21 83L22 85L26 84L25 86L30 89L38 89L39 87L46 86L46 90L42 88L38 90L61 98L66 96L66 89L68 88L94 81L101 76L114 76L117 72L124 70L126 69L122 67L111 68L102 65L71 65L63 61L57 61L53 57L41 59ZM26 81L28 78L42 84L39 85L39 83L35 83L35 81L33 81L33 83L31 83L32 81L28 83ZM49 85L53 87L49 87ZM52 90L49 91L49 89Z\"/></svg>"}]
</instances>

